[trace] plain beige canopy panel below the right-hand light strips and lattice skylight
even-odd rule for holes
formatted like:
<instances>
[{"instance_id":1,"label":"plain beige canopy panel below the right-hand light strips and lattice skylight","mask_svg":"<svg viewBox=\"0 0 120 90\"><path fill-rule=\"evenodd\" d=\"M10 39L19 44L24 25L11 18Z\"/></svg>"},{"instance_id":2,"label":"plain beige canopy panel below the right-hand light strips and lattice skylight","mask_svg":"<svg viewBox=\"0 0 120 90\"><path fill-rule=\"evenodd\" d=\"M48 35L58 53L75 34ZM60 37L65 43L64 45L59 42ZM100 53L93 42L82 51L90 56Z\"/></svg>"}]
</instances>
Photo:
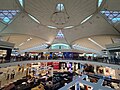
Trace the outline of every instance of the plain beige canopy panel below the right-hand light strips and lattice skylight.
<instances>
[{"instance_id":1,"label":"plain beige canopy panel below the right-hand light strips and lattice skylight","mask_svg":"<svg viewBox=\"0 0 120 90\"><path fill-rule=\"evenodd\" d=\"M63 34L69 42L80 38L95 35L119 35L119 32L113 28L100 14L96 14L88 22L73 29L64 30Z\"/></svg>"}]
</instances>

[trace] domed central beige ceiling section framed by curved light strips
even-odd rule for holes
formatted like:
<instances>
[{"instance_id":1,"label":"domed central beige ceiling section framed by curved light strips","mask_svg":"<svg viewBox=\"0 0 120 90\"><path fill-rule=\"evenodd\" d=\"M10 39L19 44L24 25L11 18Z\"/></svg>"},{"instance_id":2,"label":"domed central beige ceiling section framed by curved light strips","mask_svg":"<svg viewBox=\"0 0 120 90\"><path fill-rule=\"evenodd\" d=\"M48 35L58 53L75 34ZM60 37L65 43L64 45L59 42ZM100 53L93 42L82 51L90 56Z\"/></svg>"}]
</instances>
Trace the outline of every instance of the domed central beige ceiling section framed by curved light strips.
<instances>
[{"instance_id":1,"label":"domed central beige ceiling section framed by curved light strips","mask_svg":"<svg viewBox=\"0 0 120 90\"><path fill-rule=\"evenodd\" d=\"M97 0L25 0L25 10L36 17L43 25L63 28L78 25L85 17L96 11L96 4ZM61 5L63 6L61 13L57 13ZM62 17L62 12L67 18ZM61 18L56 20L57 17ZM57 25L52 22L52 19L54 19L56 22L64 23L62 18L68 19L67 23Z\"/></svg>"}]
</instances>

